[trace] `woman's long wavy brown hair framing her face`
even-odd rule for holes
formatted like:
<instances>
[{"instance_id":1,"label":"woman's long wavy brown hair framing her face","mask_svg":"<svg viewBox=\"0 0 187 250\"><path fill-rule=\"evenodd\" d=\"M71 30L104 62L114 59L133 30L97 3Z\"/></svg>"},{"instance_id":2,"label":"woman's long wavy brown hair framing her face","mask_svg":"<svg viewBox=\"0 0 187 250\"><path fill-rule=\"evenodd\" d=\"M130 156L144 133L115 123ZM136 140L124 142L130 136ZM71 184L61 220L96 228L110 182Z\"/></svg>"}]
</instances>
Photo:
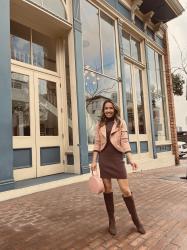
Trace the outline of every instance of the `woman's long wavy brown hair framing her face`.
<instances>
[{"instance_id":1,"label":"woman's long wavy brown hair framing her face","mask_svg":"<svg viewBox=\"0 0 187 250\"><path fill-rule=\"evenodd\" d=\"M101 119L99 121L99 127L104 126L105 123L106 123L106 116L105 116L105 113L104 113L106 103L111 103L112 104L112 106L114 108L114 120L116 120L117 127L119 127L120 124L121 124L120 109L111 99L107 99L103 103L103 107L102 107L102 110L101 110Z\"/></svg>"}]
</instances>

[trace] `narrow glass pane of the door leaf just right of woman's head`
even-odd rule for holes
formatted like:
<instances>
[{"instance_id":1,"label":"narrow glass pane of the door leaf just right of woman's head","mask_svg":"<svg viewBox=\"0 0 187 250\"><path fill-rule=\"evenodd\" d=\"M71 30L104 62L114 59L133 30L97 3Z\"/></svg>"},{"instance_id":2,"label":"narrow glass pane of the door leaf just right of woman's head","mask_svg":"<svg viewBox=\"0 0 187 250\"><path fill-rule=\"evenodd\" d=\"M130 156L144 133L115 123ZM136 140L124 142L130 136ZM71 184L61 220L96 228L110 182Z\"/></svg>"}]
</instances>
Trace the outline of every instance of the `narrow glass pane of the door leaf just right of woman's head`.
<instances>
[{"instance_id":1,"label":"narrow glass pane of the door leaf just right of woman's head","mask_svg":"<svg viewBox=\"0 0 187 250\"><path fill-rule=\"evenodd\" d=\"M126 98L127 98L128 132L129 134L135 134L131 66L127 63L125 63L125 86L126 86Z\"/></svg>"}]
</instances>

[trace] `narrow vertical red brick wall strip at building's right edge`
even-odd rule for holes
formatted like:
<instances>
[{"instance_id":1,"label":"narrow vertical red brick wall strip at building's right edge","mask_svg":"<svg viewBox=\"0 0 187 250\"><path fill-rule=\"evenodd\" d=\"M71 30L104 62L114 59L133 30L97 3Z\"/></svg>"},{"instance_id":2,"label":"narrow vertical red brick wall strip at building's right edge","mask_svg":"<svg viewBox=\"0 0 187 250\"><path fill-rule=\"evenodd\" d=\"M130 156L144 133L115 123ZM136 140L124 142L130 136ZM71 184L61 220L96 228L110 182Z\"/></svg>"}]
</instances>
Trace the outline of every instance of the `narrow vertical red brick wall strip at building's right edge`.
<instances>
[{"instance_id":1,"label":"narrow vertical red brick wall strip at building's right edge","mask_svg":"<svg viewBox=\"0 0 187 250\"><path fill-rule=\"evenodd\" d=\"M165 48L165 74L166 74L166 86L167 86L167 96L169 104L169 119L170 119L170 130L171 130L171 141L172 141L172 152L175 155L175 164L178 165L179 161L179 151L177 145L177 128L176 128L176 118L175 118L175 105L173 96L173 85L171 77L171 64L170 64L170 54L169 54L169 44L168 44L168 32L164 34L164 48Z\"/></svg>"}]
</instances>

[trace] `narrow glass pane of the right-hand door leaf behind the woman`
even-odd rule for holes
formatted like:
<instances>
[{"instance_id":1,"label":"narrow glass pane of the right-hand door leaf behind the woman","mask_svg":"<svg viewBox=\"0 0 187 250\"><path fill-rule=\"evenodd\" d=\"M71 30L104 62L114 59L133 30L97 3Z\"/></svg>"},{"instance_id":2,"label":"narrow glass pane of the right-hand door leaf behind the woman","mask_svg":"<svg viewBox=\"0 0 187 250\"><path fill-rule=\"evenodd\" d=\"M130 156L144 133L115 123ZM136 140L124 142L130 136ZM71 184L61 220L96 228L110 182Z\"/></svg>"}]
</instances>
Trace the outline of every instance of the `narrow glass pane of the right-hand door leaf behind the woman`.
<instances>
[{"instance_id":1,"label":"narrow glass pane of the right-hand door leaf behind the woman","mask_svg":"<svg viewBox=\"0 0 187 250\"><path fill-rule=\"evenodd\" d=\"M136 84L139 134L146 134L142 72L137 68L135 68L135 84Z\"/></svg>"}]
</instances>

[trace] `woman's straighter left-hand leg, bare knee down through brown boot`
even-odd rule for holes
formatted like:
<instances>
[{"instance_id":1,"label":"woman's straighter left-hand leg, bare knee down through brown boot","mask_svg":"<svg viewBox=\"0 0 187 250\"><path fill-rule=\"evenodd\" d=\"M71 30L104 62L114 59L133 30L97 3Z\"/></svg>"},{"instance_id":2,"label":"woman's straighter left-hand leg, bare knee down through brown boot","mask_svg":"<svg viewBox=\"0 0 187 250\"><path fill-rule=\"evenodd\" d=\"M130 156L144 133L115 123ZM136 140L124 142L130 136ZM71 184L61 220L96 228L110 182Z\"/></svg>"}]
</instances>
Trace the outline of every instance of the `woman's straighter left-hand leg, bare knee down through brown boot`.
<instances>
[{"instance_id":1,"label":"woman's straighter left-hand leg, bare knee down through brown boot","mask_svg":"<svg viewBox=\"0 0 187 250\"><path fill-rule=\"evenodd\" d=\"M116 235L112 182L111 182L111 179L103 179L103 183L105 187L105 192L103 193L103 196L104 196L104 201L105 201L106 210L107 210L108 219L109 219L108 231L110 234Z\"/></svg>"}]
</instances>

